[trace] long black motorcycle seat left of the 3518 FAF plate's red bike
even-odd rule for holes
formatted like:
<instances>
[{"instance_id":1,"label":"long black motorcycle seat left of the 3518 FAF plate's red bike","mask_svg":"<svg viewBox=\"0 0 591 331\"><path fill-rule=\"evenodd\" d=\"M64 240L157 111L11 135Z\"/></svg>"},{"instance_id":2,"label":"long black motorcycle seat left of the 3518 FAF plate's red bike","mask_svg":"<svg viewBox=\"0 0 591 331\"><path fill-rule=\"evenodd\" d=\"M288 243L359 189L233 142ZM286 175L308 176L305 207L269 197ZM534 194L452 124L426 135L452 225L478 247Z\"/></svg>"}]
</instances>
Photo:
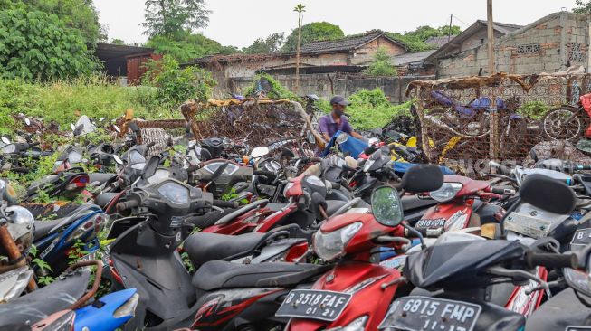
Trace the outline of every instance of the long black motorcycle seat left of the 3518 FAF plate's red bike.
<instances>
[{"instance_id":1,"label":"long black motorcycle seat left of the 3518 FAF plate's red bike","mask_svg":"<svg viewBox=\"0 0 591 331\"><path fill-rule=\"evenodd\" d=\"M309 263L239 264L222 260L206 262L193 276L193 286L216 288L286 288L323 274L330 266Z\"/></svg>"}]
</instances>

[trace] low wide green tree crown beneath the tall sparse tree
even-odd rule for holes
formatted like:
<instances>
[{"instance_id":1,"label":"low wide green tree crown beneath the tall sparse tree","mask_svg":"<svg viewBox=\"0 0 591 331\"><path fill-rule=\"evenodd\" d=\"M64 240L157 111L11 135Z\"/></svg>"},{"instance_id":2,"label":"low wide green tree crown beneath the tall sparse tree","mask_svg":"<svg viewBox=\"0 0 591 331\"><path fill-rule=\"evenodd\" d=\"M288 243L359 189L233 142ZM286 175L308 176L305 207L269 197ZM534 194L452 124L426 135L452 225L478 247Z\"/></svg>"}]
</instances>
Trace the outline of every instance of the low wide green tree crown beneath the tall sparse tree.
<instances>
[{"instance_id":1,"label":"low wide green tree crown beneath the tall sparse tree","mask_svg":"<svg viewBox=\"0 0 591 331\"><path fill-rule=\"evenodd\" d=\"M184 63L209 54L230 54L238 52L233 46L223 46L199 33L188 31L176 33L176 36L157 35L151 37L146 47L153 48L158 54L167 54Z\"/></svg>"}]
</instances>

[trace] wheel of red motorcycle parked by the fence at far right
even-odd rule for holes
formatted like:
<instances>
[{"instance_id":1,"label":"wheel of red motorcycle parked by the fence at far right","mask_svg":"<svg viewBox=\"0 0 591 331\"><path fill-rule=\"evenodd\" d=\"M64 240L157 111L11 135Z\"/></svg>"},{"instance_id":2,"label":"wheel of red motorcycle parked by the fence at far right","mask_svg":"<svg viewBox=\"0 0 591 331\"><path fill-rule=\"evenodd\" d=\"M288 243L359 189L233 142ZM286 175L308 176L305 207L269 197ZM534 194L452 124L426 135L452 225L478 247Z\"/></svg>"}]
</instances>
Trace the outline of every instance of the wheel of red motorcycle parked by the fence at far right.
<instances>
[{"instance_id":1,"label":"wheel of red motorcycle parked by the fence at far right","mask_svg":"<svg viewBox=\"0 0 591 331\"><path fill-rule=\"evenodd\" d=\"M560 107L552 109L542 118L544 136L551 140L573 141L583 134L583 120L577 117L577 109Z\"/></svg>"}]
</instances>

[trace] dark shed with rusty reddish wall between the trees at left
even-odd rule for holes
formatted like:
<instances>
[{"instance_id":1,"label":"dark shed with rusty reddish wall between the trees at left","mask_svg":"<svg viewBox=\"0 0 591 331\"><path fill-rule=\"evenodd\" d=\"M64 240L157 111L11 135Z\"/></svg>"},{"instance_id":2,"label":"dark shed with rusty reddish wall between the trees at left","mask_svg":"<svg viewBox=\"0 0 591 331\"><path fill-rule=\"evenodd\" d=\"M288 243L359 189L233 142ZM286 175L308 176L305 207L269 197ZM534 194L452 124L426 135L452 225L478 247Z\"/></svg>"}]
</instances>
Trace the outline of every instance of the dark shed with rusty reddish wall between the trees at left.
<instances>
[{"instance_id":1,"label":"dark shed with rusty reddish wall between the trees at left","mask_svg":"<svg viewBox=\"0 0 591 331\"><path fill-rule=\"evenodd\" d=\"M149 59L161 59L161 55L147 47L98 43L95 55L104 66L108 76L121 78L121 83L137 84L146 72L143 64Z\"/></svg>"}]
</instances>

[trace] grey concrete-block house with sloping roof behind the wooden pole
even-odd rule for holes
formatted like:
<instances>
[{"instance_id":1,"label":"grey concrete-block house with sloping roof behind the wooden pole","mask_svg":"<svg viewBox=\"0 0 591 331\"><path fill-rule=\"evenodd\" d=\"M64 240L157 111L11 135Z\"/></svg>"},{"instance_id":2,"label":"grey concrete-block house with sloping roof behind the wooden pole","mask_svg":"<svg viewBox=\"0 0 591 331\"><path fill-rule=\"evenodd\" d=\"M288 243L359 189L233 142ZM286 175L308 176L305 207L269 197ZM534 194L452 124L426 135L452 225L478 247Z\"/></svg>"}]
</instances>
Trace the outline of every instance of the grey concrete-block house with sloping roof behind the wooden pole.
<instances>
[{"instance_id":1,"label":"grey concrete-block house with sloping roof behind the wooden pole","mask_svg":"<svg viewBox=\"0 0 591 331\"><path fill-rule=\"evenodd\" d=\"M432 61L438 78L488 74L486 22L478 21L443 45ZM548 14L538 21L518 25L495 24L495 71L513 74L556 72L589 61L589 21L568 12ZM479 40L480 38L480 40Z\"/></svg>"}]
</instances>

